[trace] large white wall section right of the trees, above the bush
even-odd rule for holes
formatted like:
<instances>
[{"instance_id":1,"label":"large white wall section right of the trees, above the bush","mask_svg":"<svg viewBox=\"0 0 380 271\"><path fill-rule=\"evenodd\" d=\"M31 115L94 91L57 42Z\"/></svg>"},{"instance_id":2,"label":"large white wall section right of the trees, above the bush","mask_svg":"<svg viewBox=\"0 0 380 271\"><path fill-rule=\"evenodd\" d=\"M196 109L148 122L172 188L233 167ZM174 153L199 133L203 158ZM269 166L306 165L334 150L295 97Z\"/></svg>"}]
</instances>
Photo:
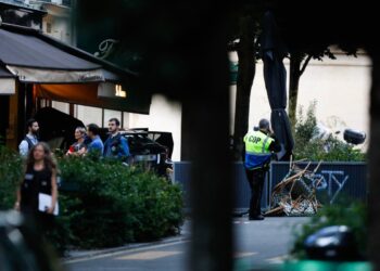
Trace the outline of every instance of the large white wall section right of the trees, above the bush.
<instances>
[{"instance_id":1,"label":"large white wall section right of the trees, above the bush","mask_svg":"<svg viewBox=\"0 0 380 271\"><path fill-rule=\"evenodd\" d=\"M299 103L317 101L317 117L328 127L353 128L369 133L370 61L340 55L335 61L314 61L301 78ZM367 141L368 143L368 141Z\"/></svg>"}]
</instances>

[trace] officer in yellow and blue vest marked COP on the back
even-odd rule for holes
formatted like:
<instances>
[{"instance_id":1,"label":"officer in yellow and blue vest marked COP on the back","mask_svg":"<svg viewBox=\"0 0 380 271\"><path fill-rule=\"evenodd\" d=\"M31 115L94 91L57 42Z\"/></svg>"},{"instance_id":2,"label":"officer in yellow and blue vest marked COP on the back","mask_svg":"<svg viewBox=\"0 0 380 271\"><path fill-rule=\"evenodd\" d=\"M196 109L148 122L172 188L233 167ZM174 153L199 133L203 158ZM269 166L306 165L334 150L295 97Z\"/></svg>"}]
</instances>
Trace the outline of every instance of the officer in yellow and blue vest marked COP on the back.
<instances>
[{"instance_id":1,"label":"officer in yellow and blue vest marked COP on the back","mask_svg":"<svg viewBox=\"0 0 380 271\"><path fill-rule=\"evenodd\" d=\"M265 175L269 169L271 153L279 152L281 146L271 134L269 121L265 118L259 120L258 130L244 136L244 168L251 188L249 219L263 220L261 199Z\"/></svg>"}]
</instances>

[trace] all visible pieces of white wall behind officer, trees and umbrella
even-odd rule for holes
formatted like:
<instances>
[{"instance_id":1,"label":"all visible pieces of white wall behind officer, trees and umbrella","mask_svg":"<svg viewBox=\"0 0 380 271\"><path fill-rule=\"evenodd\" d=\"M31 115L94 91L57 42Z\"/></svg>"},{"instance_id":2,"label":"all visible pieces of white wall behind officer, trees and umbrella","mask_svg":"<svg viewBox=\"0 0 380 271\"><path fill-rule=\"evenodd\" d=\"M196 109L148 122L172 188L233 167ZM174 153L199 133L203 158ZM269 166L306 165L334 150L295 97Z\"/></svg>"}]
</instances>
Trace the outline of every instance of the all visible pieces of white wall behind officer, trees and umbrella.
<instances>
[{"instance_id":1,"label":"all visible pieces of white wall behind officer, trees and umbrella","mask_svg":"<svg viewBox=\"0 0 380 271\"><path fill-rule=\"evenodd\" d=\"M236 54L231 54L230 59L233 62L238 60ZM289 63L284 61L284 64L289 87ZM368 136L370 65L369 57L364 54L357 59L340 54L337 60L311 61L300 80L297 106L303 106L305 112L316 101L318 121L333 130L352 128L363 130ZM236 86L231 86L231 131L235 93ZM263 63L258 62L251 92L250 128L256 126L262 117L270 118L270 107L264 83ZM363 147L368 143L367 139Z\"/></svg>"}]
</instances>

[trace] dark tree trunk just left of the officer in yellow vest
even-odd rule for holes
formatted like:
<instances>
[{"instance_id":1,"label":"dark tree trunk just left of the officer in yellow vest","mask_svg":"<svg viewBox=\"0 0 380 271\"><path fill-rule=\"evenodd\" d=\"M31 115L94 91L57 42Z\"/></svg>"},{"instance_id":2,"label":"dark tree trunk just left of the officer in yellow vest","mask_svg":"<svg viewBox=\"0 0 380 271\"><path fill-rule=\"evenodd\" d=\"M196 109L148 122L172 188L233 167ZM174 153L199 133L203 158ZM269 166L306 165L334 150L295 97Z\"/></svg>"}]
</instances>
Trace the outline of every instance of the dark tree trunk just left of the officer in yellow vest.
<instances>
[{"instance_id":1,"label":"dark tree trunk just left of the officer in yellow vest","mask_svg":"<svg viewBox=\"0 0 380 271\"><path fill-rule=\"evenodd\" d=\"M240 18L240 41L238 46L239 69L233 128L233 159L241 159L243 137L248 131L250 99L256 72L254 21L250 15Z\"/></svg>"}]
</instances>

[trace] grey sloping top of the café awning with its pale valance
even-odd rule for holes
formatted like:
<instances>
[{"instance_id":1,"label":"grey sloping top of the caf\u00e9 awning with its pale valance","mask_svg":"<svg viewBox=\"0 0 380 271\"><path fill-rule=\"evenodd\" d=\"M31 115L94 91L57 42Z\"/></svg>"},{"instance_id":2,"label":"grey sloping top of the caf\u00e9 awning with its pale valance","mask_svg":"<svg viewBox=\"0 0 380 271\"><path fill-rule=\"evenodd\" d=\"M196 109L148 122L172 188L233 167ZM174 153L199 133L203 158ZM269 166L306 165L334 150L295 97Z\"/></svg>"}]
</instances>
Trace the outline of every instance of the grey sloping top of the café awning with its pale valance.
<instances>
[{"instance_id":1,"label":"grey sloping top of the caf\u00e9 awning with its pale valance","mask_svg":"<svg viewBox=\"0 0 380 271\"><path fill-rule=\"evenodd\" d=\"M106 70L105 62L38 30L4 24L0 27L0 61L24 82L93 82L132 75L123 69L118 74Z\"/></svg>"}]
</instances>

